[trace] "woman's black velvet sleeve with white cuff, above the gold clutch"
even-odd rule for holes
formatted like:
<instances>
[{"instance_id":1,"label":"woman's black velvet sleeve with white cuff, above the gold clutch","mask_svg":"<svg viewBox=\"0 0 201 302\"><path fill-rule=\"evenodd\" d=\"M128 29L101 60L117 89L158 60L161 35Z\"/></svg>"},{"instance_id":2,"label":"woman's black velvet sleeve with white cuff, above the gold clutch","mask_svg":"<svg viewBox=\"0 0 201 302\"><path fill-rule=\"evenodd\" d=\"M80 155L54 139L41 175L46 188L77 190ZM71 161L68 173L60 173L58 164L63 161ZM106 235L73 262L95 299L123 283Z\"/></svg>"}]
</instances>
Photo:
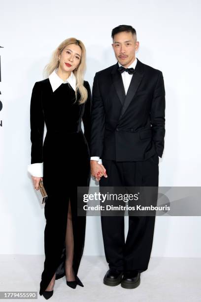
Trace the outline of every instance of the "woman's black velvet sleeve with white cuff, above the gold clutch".
<instances>
[{"instance_id":1,"label":"woman's black velvet sleeve with white cuff, above the gold clutch","mask_svg":"<svg viewBox=\"0 0 201 302\"><path fill-rule=\"evenodd\" d=\"M39 82L35 82L32 90L30 104L30 125L31 125L31 165L28 171L33 176L42 177L43 163L43 134L44 134L44 114L41 103L41 90ZM32 165L37 163L37 165ZM35 170L37 168L37 170ZM36 175L37 174L37 175ZM40 175L39 175L40 174Z\"/></svg>"}]
</instances>

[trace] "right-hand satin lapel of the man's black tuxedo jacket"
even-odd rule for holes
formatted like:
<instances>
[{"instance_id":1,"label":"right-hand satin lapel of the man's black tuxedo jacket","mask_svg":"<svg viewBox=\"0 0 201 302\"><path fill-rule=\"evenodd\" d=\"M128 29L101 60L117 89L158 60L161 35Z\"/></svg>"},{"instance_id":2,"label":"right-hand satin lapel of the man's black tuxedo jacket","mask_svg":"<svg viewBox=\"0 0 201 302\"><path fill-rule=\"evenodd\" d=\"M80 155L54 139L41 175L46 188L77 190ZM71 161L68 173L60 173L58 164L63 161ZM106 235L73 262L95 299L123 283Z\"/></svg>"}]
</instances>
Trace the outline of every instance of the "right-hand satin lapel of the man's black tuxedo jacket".
<instances>
[{"instance_id":1,"label":"right-hand satin lapel of the man's black tuxedo jacket","mask_svg":"<svg viewBox=\"0 0 201 302\"><path fill-rule=\"evenodd\" d=\"M126 94L126 99L125 99L125 102L124 102L124 106L122 107L122 111L121 111L121 114L120 114L119 118L121 118L122 115L126 112L126 110L129 107L131 101L133 100L134 95L137 91L137 88L138 88L138 86L139 86L139 84L142 80L142 77L143 77L143 65L137 59L137 64L136 64L136 67L135 67L135 73L132 76L129 89L128 89L127 94Z\"/></svg>"}]
</instances>

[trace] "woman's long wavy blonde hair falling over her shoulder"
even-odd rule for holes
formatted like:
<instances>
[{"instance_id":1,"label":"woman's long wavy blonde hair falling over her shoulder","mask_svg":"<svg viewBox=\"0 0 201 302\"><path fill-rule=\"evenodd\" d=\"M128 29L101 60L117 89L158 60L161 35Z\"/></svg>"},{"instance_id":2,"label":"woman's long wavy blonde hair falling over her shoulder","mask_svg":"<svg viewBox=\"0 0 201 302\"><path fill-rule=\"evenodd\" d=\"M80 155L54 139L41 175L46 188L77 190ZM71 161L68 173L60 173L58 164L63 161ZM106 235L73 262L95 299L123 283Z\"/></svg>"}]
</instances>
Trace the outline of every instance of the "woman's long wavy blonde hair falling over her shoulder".
<instances>
[{"instance_id":1,"label":"woman's long wavy blonde hair falling over her shoulder","mask_svg":"<svg viewBox=\"0 0 201 302\"><path fill-rule=\"evenodd\" d=\"M87 100L88 92L87 89L84 87L84 73L86 71L86 49L82 41L77 40L76 38L68 38L63 42L61 42L61 44L53 52L50 62L45 66L43 75L45 77L48 77L56 68L59 68L59 55L62 53L64 48L69 44L79 45L82 50L80 64L77 70L73 70L73 74L76 78L75 101L77 101L77 92L79 90L81 96L79 100L79 104L83 104Z\"/></svg>"}]
</instances>

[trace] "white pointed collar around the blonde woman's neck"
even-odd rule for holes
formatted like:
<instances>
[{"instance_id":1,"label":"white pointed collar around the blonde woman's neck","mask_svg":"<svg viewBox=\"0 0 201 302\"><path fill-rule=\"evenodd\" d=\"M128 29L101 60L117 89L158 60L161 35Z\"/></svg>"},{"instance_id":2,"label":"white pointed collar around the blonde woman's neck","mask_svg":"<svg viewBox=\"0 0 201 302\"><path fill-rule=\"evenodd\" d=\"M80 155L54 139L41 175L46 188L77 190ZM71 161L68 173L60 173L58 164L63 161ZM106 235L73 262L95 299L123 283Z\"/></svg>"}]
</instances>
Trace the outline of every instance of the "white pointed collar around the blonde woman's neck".
<instances>
[{"instance_id":1,"label":"white pointed collar around the blonde woman's neck","mask_svg":"<svg viewBox=\"0 0 201 302\"><path fill-rule=\"evenodd\" d=\"M59 88L59 86L63 83L69 83L70 86L74 89L75 91L75 87L76 87L76 77L73 74L73 72L71 72L70 76L66 79L66 81L64 81L61 77L59 77L57 75L58 72L58 68L56 68L50 75L49 75L49 80L50 80L50 84L52 86L52 91L54 92L57 88Z\"/></svg>"}]
</instances>

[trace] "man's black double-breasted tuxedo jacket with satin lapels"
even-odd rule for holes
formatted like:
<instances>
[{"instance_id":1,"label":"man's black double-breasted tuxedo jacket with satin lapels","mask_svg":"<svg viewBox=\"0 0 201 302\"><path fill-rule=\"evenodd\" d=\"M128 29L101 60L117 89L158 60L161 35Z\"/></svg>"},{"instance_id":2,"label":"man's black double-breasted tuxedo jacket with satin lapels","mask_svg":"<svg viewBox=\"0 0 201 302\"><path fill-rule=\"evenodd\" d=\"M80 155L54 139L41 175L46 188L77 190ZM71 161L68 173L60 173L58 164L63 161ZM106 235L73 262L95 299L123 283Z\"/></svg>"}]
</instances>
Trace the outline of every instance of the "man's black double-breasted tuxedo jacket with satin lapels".
<instances>
[{"instance_id":1,"label":"man's black double-breasted tuxedo jacket with satin lapels","mask_svg":"<svg viewBox=\"0 0 201 302\"><path fill-rule=\"evenodd\" d=\"M91 156L116 161L162 157L165 137L165 87L161 71L137 59L125 95L118 62L94 77Z\"/></svg>"}]
</instances>

